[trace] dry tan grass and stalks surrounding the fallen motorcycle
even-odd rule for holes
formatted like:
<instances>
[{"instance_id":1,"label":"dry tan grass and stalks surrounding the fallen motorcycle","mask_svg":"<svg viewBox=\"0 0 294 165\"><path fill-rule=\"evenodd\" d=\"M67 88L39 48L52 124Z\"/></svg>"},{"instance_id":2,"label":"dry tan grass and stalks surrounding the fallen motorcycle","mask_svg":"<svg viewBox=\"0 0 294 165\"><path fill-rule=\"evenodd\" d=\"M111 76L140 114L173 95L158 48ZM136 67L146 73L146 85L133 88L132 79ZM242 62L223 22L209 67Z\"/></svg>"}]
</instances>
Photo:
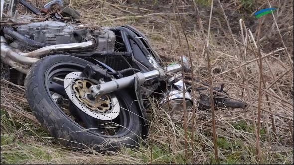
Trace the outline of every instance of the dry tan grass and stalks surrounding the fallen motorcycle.
<instances>
[{"instance_id":1,"label":"dry tan grass and stalks surrounding the fallen motorcycle","mask_svg":"<svg viewBox=\"0 0 294 165\"><path fill-rule=\"evenodd\" d=\"M177 21L177 11L173 10L172 1L70 0L66 1L66 4L78 9L83 15L83 22L88 24L135 26L147 35L153 48L166 63L179 61L180 55L188 57L189 48L194 77L200 81L208 81L207 58L201 33L207 35L210 3L205 0L195 1L201 13L204 31L200 30L194 3L177 1L188 44L184 41L185 37ZM267 1L256 1L260 8L269 7ZM259 138L256 138L254 126L254 121L258 122L260 81L256 37L258 21L252 16L255 3L253 0L221 2L225 14L228 15L229 26L218 1L215 0L207 50L210 54L213 83L224 83L230 97L241 98L252 106L247 110L215 111L219 159L224 164L257 164L256 139L259 139L264 164L293 164L293 1L271 1L273 7L279 8L274 14L277 22L271 15L261 18L260 53L263 82ZM41 4L41 1L38 0L38 3ZM240 18L244 20L241 27ZM181 44L178 43L178 37L182 41ZM238 67L240 65L242 67ZM187 82L194 83L195 87L200 86L199 83L191 81L191 75L186 75L186 78ZM195 94L195 97L198 96ZM168 108L160 107L158 100L150 98L150 101L152 106L147 110L150 121L147 145L107 155L90 150L74 152L60 146L43 131L29 110L22 86L1 80L1 163L215 163L210 111L196 110L194 137L191 137L192 111L187 111L188 153L193 149L194 154L192 158L186 159L182 111L174 114Z\"/></svg>"}]
</instances>

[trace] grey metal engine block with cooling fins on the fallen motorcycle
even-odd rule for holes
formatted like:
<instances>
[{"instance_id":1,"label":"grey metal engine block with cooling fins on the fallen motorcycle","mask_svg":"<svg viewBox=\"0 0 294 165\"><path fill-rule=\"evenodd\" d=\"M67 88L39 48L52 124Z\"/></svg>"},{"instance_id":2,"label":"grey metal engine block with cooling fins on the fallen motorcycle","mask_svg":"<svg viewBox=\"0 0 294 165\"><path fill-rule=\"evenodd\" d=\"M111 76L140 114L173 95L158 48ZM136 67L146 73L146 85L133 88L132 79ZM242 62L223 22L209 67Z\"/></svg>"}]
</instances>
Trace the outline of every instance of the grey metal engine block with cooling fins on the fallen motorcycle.
<instances>
[{"instance_id":1,"label":"grey metal engine block with cooling fins on the fallen motorcycle","mask_svg":"<svg viewBox=\"0 0 294 165\"><path fill-rule=\"evenodd\" d=\"M98 51L114 51L115 48L115 33L105 27L44 21L20 25L17 31L32 40L50 45L86 42L87 34L90 34L96 39Z\"/></svg>"}]
</instances>

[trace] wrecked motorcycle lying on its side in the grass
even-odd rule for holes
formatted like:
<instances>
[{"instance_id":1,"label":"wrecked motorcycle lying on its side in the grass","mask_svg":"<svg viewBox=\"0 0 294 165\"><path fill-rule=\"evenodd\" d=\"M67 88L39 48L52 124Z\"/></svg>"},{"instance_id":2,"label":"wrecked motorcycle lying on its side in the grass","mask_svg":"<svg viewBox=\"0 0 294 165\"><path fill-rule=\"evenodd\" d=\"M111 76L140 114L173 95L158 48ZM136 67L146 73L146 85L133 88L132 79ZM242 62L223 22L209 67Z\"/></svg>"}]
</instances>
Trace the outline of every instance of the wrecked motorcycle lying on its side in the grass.
<instances>
[{"instance_id":1,"label":"wrecked motorcycle lying on its side in the grass","mask_svg":"<svg viewBox=\"0 0 294 165\"><path fill-rule=\"evenodd\" d=\"M33 16L18 14L16 3L46 15L47 20L19 23ZM53 12L52 6L64 15ZM136 147L147 138L150 96L161 103L182 103L184 95L187 105L196 101L179 72L190 72L189 62L184 58L164 67L147 37L133 26L81 24L76 19L80 14L64 7L62 0L50 1L41 10L25 0L10 0L7 8L5 19L15 24L1 25L1 65L11 71L6 79L19 83L25 77L32 112L64 146L98 151ZM214 89L216 107L247 107L243 101L229 99L223 86ZM209 109L209 95L202 95L197 103L199 109Z\"/></svg>"}]
</instances>

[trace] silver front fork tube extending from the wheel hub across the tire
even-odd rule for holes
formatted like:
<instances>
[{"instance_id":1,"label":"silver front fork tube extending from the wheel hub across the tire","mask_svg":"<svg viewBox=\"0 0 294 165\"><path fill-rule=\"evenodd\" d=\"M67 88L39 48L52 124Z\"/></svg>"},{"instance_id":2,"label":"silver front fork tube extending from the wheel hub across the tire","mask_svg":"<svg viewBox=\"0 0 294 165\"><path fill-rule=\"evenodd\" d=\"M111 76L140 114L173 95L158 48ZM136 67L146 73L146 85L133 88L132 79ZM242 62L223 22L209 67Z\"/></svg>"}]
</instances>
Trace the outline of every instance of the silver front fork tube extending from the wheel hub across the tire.
<instances>
[{"instance_id":1,"label":"silver front fork tube extending from the wheel hub across the tire","mask_svg":"<svg viewBox=\"0 0 294 165\"><path fill-rule=\"evenodd\" d=\"M167 72L176 72L181 70L180 64L175 64L172 66L168 66L164 69L155 69L153 71L149 71L146 73L136 73L132 76L128 76L122 79L113 80L106 83L101 83L98 85L92 85L90 89L92 90L92 95L94 97L101 96L119 89L126 88L128 86L131 86L134 83L134 78L137 77L139 80L139 84L143 84L146 80L154 79L154 78L160 78L165 76L165 71Z\"/></svg>"}]
</instances>

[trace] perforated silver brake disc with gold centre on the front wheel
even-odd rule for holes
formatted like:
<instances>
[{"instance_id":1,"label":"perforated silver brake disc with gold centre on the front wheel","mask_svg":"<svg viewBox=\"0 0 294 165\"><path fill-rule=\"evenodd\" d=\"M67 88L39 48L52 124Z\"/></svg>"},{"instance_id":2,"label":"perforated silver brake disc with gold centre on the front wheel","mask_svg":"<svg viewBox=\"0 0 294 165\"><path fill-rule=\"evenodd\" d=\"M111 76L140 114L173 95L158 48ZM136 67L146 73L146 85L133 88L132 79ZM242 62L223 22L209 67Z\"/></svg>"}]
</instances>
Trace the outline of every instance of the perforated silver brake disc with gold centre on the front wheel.
<instances>
[{"instance_id":1,"label":"perforated silver brake disc with gold centre on the front wheel","mask_svg":"<svg viewBox=\"0 0 294 165\"><path fill-rule=\"evenodd\" d=\"M115 119L120 112L117 97L113 93L109 93L97 98L91 98L89 88L94 84L81 77L81 74L81 72L72 72L64 78L63 85L70 100L80 110L96 119Z\"/></svg>"}]
</instances>

